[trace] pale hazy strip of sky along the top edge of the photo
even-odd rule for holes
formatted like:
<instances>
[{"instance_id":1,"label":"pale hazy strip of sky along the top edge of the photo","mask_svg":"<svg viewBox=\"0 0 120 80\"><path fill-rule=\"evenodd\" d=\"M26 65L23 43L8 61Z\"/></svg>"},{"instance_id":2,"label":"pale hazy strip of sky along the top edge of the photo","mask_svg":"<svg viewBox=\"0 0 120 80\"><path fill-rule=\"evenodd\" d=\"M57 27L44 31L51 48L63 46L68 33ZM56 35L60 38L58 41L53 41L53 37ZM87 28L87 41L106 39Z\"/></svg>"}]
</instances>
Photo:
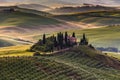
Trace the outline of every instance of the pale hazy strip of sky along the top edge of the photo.
<instances>
[{"instance_id":1,"label":"pale hazy strip of sky along the top edge of the photo","mask_svg":"<svg viewBox=\"0 0 120 80\"><path fill-rule=\"evenodd\" d=\"M120 0L0 0L0 5L36 3L48 6L54 5L80 5L83 3L120 6Z\"/></svg>"}]
</instances>

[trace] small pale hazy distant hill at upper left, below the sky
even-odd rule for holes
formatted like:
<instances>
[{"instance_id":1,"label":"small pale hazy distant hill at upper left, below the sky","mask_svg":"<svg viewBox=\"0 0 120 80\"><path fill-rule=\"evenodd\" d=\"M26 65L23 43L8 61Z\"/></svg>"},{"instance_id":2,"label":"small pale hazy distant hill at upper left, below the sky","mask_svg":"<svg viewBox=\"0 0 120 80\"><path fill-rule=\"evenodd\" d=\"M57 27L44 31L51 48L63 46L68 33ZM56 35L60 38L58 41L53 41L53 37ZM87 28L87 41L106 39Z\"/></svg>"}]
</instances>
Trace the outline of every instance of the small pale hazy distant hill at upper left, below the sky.
<instances>
[{"instance_id":1,"label":"small pale hazy distant hill at upper left, below the sky","mask_svg":"<svg viewBox=\"0 0 120 80\"><path fill-rule=\"evenodd\" d=\"M50 7L40 5L40 4L20 4L17 6L20 8L34 9L34 10L38 10L38 11L44 11L44 10L51 9Z\"/></svg>"}]
</instances>

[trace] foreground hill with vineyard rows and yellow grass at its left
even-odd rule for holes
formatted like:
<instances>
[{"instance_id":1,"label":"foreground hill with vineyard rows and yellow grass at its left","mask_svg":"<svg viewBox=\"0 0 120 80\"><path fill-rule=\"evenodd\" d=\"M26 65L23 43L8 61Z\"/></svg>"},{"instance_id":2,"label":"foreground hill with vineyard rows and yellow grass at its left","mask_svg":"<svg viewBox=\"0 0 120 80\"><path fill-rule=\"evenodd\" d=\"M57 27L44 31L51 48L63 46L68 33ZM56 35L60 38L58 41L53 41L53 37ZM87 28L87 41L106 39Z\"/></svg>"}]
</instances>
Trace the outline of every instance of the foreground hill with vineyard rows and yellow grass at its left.
<instances>
[{"instance_id":1,"label":"foreground hill with vineyard rows and yellow grass at its left","mask_svg":"<svg viewBox=\"0 0 120 80\"><path fill-rule=\"evenodd\" d=\"M71 48L69 51L37 57L32 57L33 53L26 51L28 48L29 45L0 49L0 72L2 73L0 79L120 79L120 70L115 69L120 63L118 59L108 57L87 46L79 46ZM101 59L102 57L103 59Z\"/></svg>"}]
</instances>

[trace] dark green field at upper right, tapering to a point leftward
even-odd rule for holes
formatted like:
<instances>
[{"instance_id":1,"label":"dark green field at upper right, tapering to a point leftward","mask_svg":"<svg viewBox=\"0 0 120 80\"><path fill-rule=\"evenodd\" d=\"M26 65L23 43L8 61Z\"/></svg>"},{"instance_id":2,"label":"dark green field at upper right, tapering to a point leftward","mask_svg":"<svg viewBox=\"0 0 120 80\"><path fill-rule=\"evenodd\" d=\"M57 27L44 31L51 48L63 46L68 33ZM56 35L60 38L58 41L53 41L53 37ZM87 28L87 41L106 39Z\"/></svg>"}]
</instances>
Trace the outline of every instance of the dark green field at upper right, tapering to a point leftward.
<instances>
[{"instance_id":1,"label":"dark green field at upper right, tapering to a point leftward","mask_svg":"<svg viewBox=\"0 0 120 80\"><path fill-rule=\"evenodd\" d=\"M94 25L116 25L120 22L120 11L97 11L86 13L75 13L70 15L54 16L59 19L72 22L83 22Z\"/></svg>"}]
</instances>

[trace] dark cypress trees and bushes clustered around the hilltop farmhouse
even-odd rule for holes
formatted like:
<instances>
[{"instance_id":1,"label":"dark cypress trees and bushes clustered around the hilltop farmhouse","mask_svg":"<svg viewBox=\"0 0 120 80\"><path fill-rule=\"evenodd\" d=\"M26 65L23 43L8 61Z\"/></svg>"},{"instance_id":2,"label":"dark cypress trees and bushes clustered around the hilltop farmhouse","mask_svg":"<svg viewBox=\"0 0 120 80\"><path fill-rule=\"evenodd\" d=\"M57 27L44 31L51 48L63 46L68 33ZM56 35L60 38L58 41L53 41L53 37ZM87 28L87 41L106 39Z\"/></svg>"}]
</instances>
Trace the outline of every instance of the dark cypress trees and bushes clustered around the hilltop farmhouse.
<instances>
[{"instance_id":1,"label":"dark cypress trees and bushes clustered around the hilltop farmhouse","mask_svg":"<svg viewBox=\"0 0 120 80\"><path fill-rule=\"evenodd\" d=\"M43 52L53 52L54 50L61 50L77 45L77 42L72 42L68 37L76 38L75 33L73 32L72 36L69 36L67 32L57 33L57 36L46 37L43 34L43 38L40 39L36 44L31 47L31 51L43 51ZM83 34L79 45L88 45L88 40Z\"/></svg>"}]
</instances>

